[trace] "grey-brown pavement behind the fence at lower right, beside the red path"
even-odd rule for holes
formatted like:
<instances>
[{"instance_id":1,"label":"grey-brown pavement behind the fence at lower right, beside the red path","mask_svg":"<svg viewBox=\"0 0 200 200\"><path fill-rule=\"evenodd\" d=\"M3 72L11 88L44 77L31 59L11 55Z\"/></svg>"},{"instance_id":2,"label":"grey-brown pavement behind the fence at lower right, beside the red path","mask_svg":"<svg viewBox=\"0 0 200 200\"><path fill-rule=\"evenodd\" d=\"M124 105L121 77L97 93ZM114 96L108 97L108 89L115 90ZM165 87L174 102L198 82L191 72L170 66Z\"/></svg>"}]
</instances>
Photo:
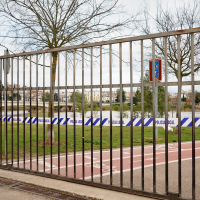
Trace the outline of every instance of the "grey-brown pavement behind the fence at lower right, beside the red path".
<instances>
[{"instance_id":1,"label":"grey-brown pavement behind the fence at lower right, beside the red path","mask_svg":"<svg viewBox=\"0 0 200 200\"><path fill-rule=\"evenodd\" d=\"M192 199L192 160L182 160L181 162L181 185L182 194L181 197L185 199ZM196 200L200 200L200 158L196 158ZM144 190L147 192L153 192L153 167L146 167L144 169ZM169 163L169 192L171 194L178 194L178 162ZM99 182L99 178L94 179ZM109 183L110 177L104 176L103 183ZM119 186L120 175L113 174L113 185ZM123 185L130 188L130 172L123 173ZM136 190L141 190L141 169L133 171L133 187ZM165 194L165 165L156 166L156 192L158 194Z\"/></svg>"}]
</instances>

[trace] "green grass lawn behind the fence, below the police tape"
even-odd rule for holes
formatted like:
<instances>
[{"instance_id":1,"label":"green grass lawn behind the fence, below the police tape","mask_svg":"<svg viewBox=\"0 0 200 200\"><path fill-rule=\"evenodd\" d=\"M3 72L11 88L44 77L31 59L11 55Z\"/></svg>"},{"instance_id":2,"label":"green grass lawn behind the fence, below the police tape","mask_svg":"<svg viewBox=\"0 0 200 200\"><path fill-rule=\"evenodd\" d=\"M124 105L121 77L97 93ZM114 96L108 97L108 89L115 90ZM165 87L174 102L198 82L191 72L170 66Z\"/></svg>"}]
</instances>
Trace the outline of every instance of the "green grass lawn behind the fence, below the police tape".
<instances>
[{"instance_id":1,"label":"green grass lawn behind the fence, below the police tape","mask_svg":"<svg viewBox=\"0 0 200 200\"><path fill-rule=\"evenodd\" d=\"M11 124L7 124L7 137L8 137L8 157L11 158L11 146L12 146L12 129ZM32 156L36 156L37 152L37 134L36 134L36 124L32 124L31 126L31 148L32 148ZM46 126L47 132L47 126ZM184 141L191 141L192 140L192 128L191 127L182 127L181 129L182 135L181 139L182 142ZM19 124L19 130L17 129L17 123L13 125L13 152L14 158L17 158L18 152L18 133L19 133L19 157L23 157L24 152L24 133L23 133L23 124ZM54 133L55 133L55 143L53 144L52 151L53 154L58 153L58 125L54 125ZM77 125L75 129L76 135L76 151L82 151L82 126ZM200 140L200 128L195 128L196 133L196 140ZM84 149L90 150L91 149L91 126L84 127ZM103 126L102 127L102 147L103 149L110 148L110 127ZM68 152L74 151L74 126L68 125L67 126L67 139L68 145L67 150ZM43 125L38 125L38 155L43 155ZM46 141L46 134L45 134L45 141ZM60 125L60 153L66 152L66 126ZM168 141L169 143L178 142L178 135L176 134L168 134ZM158 139L156 139L157 144L161 144L165 142L165 130L162 127L158 128ZM144 143L145 145L153 143L153 127L145 127L144 128ZM5 150L5 142L4 142L4 123L2 123L2 154L4 156ZM133 145L139 146L141 145L141 127L134 127L133 128ZM112 148L119 148L120 147L120 127L113 126L112 127ZM123 147L130 147L130 127L123 127ZM93 127L93 149L98 150L100 149L100 127L94 126ZM50 146L45 145L45 154L50 154L51 148ZM25 152L26 157L30 156L30 124L25 124Z\"/></svg>"}]
</instances>

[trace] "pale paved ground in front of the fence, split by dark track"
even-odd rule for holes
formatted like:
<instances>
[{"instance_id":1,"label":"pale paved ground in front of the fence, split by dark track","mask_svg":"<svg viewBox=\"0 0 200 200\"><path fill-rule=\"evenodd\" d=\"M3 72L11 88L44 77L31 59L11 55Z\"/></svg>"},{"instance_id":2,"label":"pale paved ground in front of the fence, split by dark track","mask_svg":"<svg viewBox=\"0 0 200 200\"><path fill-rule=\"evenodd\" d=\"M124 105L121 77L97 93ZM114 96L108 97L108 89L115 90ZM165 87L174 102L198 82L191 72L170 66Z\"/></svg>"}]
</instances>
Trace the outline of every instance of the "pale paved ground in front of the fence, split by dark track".
<instances>
[{"instance_id":1,"label":"pale paved ground in front of the fence, split by dark track","mask_svg":"<svg viewBox=\"0 0 200 200\"><path fill-rule=\"evenodd\" d=\"M40 176L34 176L29 174L23 174L19 172L14 172L10 170L2 170L0 169L0 177L6 178L8 180L15 180L21 183L32 184L36 186L40 186L44 188L49 188L53 190L58 190L60 192L66 192L70 194L74 194L75 196L82 196L84 199L95 199L95 200L146 200L150 198L145 198L141 196L135 196L115 191L109 191L105 189L94 188L86 185L80 185L75 183L69 183L65 181L44 178ZM2 200L23 200L23 199L34 199L34 200L43 200L43 199L52 199L49 196L39 196L35 193L27 193L24 191L20 191L17 189L13 189L11 187L0 186L0 199ZM53 198L55 199L55 198ZM59 199L59 198L57 198ZM67 198L65 198L67 199ZM76 199L69 198L69 199Z\"/></svg>"}]
</instances>

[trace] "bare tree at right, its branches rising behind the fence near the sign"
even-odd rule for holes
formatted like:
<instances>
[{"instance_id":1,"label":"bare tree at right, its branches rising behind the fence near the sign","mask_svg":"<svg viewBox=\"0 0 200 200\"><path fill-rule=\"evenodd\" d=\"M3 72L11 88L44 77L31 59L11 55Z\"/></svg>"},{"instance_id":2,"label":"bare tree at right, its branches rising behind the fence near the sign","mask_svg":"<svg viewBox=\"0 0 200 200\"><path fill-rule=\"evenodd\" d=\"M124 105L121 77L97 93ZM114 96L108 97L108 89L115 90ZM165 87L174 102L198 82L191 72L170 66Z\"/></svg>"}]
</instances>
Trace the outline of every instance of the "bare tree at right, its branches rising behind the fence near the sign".
<instances>
[{"instance_id":1,"label":"bare tree at right, its branches rising behind the fence near the sign","mask_svg":"<svg viewBox=\"0 0 200 200\"><path fill-rule=\"evenodd\" d=\"M185 3L184 1L179 6L176 4L173 7L157 5L157 13L152 16L148 9L144 9L140 20L135 21L137 30L142 34L161 33L175 30L189 29L200 26L200 4L199 1ZM155 40L156 56L158 58L165 57L167 53L168 73L174 75L178 79L178 45L177 36L167 38L167 52L165 52L165 42L163 38ZM151 48L148 46L147 48ZM200 68L200 35L195 34L194 37L194 56L195 64L194 71L197 72ZM149 53L150 59L152 57ZM181 36L180 46L180 65L181 65L181 82L183 77L189 76L191 71L191 36L185 34ZM177 112L178 115L178 112ZM178 117L178 116L177 116Z\"/></svg>"}]
</instances>

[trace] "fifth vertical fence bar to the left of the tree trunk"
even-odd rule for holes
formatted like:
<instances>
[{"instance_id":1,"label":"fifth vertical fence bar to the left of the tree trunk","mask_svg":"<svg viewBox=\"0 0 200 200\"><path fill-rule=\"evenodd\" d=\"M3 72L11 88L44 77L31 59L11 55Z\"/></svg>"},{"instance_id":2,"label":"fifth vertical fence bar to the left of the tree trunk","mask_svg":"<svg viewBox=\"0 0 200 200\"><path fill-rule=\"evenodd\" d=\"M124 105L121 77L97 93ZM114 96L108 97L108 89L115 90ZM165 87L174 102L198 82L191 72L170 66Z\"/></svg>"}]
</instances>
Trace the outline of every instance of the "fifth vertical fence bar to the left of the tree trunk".
<instances>
[{"instance_id":1,"label":"fifth vertical fence bar to the left of the tree trunk","mask_svg":"<svg viewBox=\"0 0 200 200\"><path fill-rule=\"evenodd\" d=\"M19 57L17 57L17 167L19 168Z\"/></svg>"}]
</instances>

